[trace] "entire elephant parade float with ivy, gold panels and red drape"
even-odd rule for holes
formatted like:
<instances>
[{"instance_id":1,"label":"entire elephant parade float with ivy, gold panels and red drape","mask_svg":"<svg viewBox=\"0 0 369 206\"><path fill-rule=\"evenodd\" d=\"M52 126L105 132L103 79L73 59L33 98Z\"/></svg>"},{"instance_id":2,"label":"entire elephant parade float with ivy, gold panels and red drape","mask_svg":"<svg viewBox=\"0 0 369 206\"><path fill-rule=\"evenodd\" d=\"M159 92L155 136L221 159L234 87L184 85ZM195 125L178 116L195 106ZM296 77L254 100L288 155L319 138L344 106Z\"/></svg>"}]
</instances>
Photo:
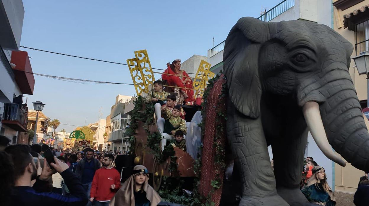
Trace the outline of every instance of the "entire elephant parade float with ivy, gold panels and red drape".
<instances>
[{"instance_id":1,"label":"entire elephant parade float with ivy, gold panels and red drape","mask_svg":"<svg viewBox=\"0 0 369 206\"><path fill-rule=\"evenodd\" d=\"M148 168L150 184L168 202L309 205L300 191L309 131L333 162L344 167L345 159L369 170L368 120L348 71L352 50L345 38L315 22L239 19L225 41L224 74L214 76L202 62L192 79L203 81L203 103L182 106L187 122L201 110L198 158L171 144L161 151L154 105L142 97L154 72L146 50L135 52L127 60L138 95L127 131L134 163ZM195 84L186 89L199 90Z\"/></svg>"}]
</instances>

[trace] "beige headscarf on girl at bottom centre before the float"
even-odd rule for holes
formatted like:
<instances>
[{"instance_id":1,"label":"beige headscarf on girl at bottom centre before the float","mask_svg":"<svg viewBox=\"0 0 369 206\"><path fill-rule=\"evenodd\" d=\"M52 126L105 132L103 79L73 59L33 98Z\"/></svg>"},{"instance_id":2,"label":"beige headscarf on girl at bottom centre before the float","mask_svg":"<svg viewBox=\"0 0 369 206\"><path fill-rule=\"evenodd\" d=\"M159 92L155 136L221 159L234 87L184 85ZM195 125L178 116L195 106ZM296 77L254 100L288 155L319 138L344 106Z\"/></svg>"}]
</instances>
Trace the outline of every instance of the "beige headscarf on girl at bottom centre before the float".
<instances>
[{"instance_id":1,"label":"beige headscarf on girl at bottom centre before the float","mask_svg":"<svg viewBox=\"0 0 369 206\"><path fill-rule=\"evenodd\" d=\"M133 170L147 170L143 165L136 165ZM140 172L141 173L141 172ZM137 174L140 174L137 173ZM111 199L110 206L135 206L135 178L137 174L132 174L120 187L119 191ZM146 198L150 201L151 206L156 206L161 201L161 197L155 192L149 183L149 174L147 174L143 189L146 192Z\"/></svg>"}]
</instances>

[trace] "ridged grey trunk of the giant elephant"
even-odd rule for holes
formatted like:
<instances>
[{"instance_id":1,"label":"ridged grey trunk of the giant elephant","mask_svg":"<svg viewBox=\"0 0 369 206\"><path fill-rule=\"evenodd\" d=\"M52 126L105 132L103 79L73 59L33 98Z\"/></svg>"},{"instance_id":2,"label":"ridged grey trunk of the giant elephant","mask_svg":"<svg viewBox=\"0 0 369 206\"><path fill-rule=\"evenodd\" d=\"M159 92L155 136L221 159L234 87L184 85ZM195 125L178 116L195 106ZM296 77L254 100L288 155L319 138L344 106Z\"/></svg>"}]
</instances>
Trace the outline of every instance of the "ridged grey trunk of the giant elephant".
<instances>
[{"instance_id":1,"label":"ridged grey trunk of the giant elephant","mask_svg":"<svg viewBox=\"0 0 369 206\"><path fill-rule=\"evenodd\" d=\"M348 85L346 84L346 86ZM328 142L337 153L341 154L354 167L367 171L369 170L369 133L356 91L353 89L353 85L350 84L350 87L346 87L346 89L341 87L341 90L335 92L330 91L331 95L325 102L321 103L319 109L321 123L324 126L324 129L321 130L325 131ZM324 135L319 138L321 145L327 144L326 141L322 140ZM324 147L324 150L327 148ZM331 154L328 155L330 156L327 157L331 160L344 165L342 160L339 161Z\"/></svg>"}]
</instances>

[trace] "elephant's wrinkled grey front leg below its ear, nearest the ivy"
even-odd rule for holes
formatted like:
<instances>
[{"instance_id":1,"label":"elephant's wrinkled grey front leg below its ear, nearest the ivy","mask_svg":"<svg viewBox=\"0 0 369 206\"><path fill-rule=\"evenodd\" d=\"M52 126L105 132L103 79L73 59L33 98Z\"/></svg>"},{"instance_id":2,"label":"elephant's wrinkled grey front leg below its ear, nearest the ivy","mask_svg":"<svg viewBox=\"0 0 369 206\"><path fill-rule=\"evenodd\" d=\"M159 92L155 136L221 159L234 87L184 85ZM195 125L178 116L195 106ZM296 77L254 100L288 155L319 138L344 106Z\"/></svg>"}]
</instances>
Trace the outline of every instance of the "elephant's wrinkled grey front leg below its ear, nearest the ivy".
<instances>
[{"instance_id":1,"label":"elephant's wrinkled grey front leg below its ear, nearest the ivy","mask_svg":"<svg viewBox=\"0 0 369 206\"><path fill-rule=\"evenodd\" d=\"M276 191L260 119L249 119L228 107L227 136L240 170L239 205L288 205Z\"/></svg>"}]
</instances>

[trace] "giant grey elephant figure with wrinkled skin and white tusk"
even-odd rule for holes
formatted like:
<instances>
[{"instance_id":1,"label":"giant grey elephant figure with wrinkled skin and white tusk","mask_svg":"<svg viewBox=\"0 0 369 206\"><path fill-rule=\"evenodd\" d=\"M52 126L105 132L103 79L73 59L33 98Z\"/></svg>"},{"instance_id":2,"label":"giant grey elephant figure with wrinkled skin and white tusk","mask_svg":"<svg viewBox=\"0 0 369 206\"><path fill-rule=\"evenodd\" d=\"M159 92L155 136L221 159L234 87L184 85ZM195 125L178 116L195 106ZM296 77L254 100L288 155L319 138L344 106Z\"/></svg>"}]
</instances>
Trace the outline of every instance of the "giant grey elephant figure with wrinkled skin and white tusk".
<instances>
[{"instance_id":1,"label":"giant grey elephant figure with wrinkled skin and white tusk","mask_svg":"<svg viewBox=\"0 0 369 206\"><path fill-rule=\"evenodd\" d=\"M354 167L369 170L369 134L348 71L352 51L331 28L304 20L244 17L231 29L223 61L240 205L309 205L299 188L309 129L328 158L345 165L331 144Z\"/></svg>"}]
</instances>

